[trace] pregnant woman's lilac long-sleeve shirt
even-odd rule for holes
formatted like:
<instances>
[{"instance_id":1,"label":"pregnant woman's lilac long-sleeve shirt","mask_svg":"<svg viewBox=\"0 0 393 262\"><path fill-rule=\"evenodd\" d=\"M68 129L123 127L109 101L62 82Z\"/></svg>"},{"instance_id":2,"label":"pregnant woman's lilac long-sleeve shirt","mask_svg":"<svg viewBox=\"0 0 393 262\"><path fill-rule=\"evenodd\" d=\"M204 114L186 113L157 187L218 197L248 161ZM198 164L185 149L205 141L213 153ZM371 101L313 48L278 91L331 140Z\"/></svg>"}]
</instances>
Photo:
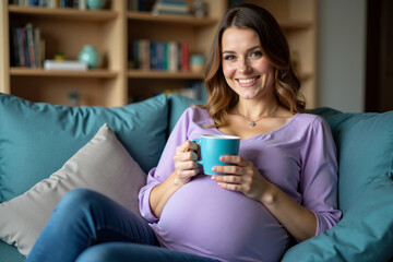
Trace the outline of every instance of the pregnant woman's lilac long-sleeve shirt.
<instances>
[{"instance_id":1,"label":"pregnant woman's lilac long-sleeve shirt","mask_svg":"<svg viewBox=\"0 0 393 262\"><path fill-rule=\"evenodd\" d=\"M159 218L152 214L151 190L175 170L176 147L202 134L223 134L216 128L205 128L213 123L204 109L190 107L183 112L158 166L150 171L140 191L141 213L166 248L219 261L278 261L287 249L287 230L261 202L219 188L210 176L200 174L176 191ZM322 118L296 114L277 130L242 140L239 155L314 213L315 235L338 222L336 153L330 127Z\"/></svg>"}]
</instances>

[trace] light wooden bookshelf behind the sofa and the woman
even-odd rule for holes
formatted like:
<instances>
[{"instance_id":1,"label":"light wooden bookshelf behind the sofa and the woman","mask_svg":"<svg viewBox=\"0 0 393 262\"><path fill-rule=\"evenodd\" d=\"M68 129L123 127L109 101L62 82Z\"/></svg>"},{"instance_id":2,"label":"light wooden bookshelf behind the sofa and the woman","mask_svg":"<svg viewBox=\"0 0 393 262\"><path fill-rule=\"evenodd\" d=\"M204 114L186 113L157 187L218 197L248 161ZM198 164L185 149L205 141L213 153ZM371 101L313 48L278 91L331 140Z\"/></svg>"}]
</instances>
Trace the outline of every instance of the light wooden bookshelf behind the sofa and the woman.
<instances>
[{"instance_id":1,"label":"light wooden bookshelf behind the sofa and the woman","mask_svg":"<svg viewBox=\"0 0 393 262\"><path fill-rule=\"evenodd\" d=\"M192 0L188 0L192 4ZM205 0L207 17L152 15L128 11L127 0L109 0L99 11L19 7L0 1L0 92L33 102L67 105L67 94L79 90L82 105L123 106L168 88L201 82L202 73L144 71L129 68L129 45L134 39L187 41L190 55L207 56L227 0ZM299 78L308 106L315 105L317 0L249 0L270 10L299 57ZM104 58L99 69L47 71L10 66L10 28L32 23L45 39L45 57L63 51L76 60L82 47L94 45Z\"/></svg>"}]
</instances>

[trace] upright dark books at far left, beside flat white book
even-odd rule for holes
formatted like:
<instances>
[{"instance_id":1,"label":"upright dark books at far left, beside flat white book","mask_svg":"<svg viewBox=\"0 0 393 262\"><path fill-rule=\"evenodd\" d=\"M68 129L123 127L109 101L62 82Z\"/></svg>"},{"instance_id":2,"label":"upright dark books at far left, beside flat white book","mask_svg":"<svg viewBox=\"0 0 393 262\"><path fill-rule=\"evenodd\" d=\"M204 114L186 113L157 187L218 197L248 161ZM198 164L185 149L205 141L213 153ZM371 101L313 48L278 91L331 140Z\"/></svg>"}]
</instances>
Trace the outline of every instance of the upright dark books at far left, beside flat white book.
<instances>
[{"instance_id":1,"label":"upright dark books at far left, beside flat white book","mask_svg":"<svg viewBox=\"0 0 393 262\"><path fill-rule=\"evenodd\" d=\"M24 27L10 29L11 67L40 68L45 53L45 43L40 29L27 23Z\"/></svg>"}]
</instances>

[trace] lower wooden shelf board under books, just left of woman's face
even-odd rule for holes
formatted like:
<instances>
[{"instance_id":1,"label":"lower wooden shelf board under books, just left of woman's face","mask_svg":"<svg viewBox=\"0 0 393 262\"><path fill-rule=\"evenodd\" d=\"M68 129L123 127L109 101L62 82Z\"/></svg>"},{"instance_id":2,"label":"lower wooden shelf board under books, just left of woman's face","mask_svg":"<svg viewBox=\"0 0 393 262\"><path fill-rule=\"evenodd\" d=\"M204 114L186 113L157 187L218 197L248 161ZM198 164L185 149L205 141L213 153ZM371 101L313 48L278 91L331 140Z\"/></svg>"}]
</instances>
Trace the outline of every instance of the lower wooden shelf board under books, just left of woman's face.
<instances>
[{"instance_id":1,"label":"lower wooden shelf board under books, just left of woman's face","mask_svg":"<svg viewBox=\"0 0 393 262\"><path fill-rule=\"evenodd\" d=\"M200 80L203 78L202 73L192 72L165 72L165 71L143 71L129 70L129 79L183 79L183 80Z\"/></svg>"}]
</instances>

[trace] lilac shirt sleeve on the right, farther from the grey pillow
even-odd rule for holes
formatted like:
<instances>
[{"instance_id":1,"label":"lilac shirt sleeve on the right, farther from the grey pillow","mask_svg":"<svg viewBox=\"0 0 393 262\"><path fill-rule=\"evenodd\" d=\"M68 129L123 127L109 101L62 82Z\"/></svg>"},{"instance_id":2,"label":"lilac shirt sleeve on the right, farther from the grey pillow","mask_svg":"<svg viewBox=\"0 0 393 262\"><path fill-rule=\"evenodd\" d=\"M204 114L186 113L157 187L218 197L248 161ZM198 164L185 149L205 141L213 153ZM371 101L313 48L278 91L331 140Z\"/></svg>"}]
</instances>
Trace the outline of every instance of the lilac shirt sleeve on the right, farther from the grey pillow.
<instances>
[{"instance_id":1,"label":"lilac shirt sleeve on the right, farther from the grey pillow","mask_svg":"<svg viewBox=\"0 0 393 262\"><path fill-rule=\"evenodd\" d=\"M337 209L336 148L329 124L320 117L308 131L301 159L301 204L317 217L317 236L337 224L342 216Z\"/></svg>"}]
</instances>

